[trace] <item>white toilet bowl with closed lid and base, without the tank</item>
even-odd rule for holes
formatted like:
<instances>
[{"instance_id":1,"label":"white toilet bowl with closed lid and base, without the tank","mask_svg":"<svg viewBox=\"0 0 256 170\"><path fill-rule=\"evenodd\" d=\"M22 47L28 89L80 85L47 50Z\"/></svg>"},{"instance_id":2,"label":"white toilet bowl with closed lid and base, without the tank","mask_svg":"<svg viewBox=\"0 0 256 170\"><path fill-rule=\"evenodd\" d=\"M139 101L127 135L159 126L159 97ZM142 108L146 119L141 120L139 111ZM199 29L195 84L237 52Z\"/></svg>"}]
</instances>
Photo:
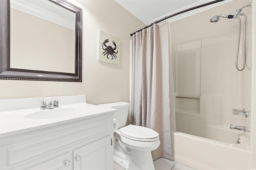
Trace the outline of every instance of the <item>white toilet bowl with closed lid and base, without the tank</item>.
<instances>
[{"instance_id":1,"label":"white toilet bowl with closed lid and base, without the tank","mask_svg":"<svg viewBox=\"0 0 256 170\"><path fill-rule=\"evenodd\" d=\"M147 133L146 136L145 133ZM139 134L142 137L138 137ZM156 131L146 127L128 125L115 131L114 140L116 141L114 143L114 162L116 164L125 170L154 170L151 151L160 145L159 135ZM122 150L117 149L119 146ZM124 160L129 160L129 162L122 161L123 157L119 156L122 155L121 153L125 155L126 159Z\"/></svg>"}]
</instances>

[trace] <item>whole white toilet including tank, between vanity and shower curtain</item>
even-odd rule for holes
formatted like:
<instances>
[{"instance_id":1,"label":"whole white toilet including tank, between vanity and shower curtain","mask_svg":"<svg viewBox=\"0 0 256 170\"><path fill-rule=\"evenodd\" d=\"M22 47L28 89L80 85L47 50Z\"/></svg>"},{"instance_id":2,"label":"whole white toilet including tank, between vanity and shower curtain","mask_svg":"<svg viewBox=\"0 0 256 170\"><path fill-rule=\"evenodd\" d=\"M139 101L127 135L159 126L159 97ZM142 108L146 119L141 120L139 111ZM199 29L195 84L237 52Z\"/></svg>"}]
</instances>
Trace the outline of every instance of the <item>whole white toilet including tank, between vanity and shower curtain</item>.
<instances>
[{"instance_id":1,"label":"whole white toilet including tank, between vanity and shower curtain","mask_svg":"<svg viewBox=\"0 0 256 170\"><path fill-rule=\"evenodd\" d=\"M114 162L125 170L154 170L151 151L160 145L159 134L146 127L125 126L129 109L126 102L99 106L118 109L114 112Z\"/></svg>"}]
</instances>

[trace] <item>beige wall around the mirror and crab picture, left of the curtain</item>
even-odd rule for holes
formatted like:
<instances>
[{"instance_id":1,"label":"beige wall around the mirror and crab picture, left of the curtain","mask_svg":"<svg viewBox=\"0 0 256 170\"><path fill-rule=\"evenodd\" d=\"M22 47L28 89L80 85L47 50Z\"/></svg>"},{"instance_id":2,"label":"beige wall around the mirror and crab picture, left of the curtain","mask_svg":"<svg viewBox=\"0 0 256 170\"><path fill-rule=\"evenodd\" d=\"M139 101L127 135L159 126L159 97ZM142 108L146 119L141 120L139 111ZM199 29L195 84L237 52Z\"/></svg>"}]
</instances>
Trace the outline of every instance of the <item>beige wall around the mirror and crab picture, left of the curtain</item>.
<instances>
[{"instance_id":1,"label":"beige wall around the mirror and crab picture, left of the curtain","mask_svg":"<svg viewBox=\"0 0 256 170\"><path fill-rule=\"evenodd\" d=\"M86 94L87 103L129 102L130 33L145 27L114 0L68 0L83 9L82 83L0 80L0 99ZM120 64L97 60L98 31L121 41Z\"/></svg>"}]
</instances>

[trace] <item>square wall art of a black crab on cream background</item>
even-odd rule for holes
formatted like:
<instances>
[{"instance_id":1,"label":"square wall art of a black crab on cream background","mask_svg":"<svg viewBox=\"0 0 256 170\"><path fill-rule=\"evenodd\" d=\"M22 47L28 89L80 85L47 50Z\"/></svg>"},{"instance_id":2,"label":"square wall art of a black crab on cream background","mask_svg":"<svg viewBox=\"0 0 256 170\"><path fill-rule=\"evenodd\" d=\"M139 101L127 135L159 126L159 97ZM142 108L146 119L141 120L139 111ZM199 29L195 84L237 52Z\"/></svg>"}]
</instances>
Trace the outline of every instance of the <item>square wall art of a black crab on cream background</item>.
<instances>
[{"instance_id":1,"label":"square wall art of a black crab on cream background","mask_svg":"<svg viewBox=\"0 0 256 170\"><path fill-rule=\"evenodd\" d=\"M120 39L99 30L99 61L120 63Z\"/></svg>"}]
</instances>

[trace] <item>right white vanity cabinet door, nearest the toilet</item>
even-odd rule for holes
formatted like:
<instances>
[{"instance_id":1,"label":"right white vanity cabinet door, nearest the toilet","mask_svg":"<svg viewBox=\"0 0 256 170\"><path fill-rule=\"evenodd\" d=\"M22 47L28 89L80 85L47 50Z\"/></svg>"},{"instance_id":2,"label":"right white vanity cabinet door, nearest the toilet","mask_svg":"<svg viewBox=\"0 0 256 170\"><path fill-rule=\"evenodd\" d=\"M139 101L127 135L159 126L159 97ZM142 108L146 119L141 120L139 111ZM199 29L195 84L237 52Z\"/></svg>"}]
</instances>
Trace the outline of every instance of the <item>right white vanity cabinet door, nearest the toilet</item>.
<instances>
[{"instance_id":1,"label":"right white vanity cabinet door, nearest the toilet","mask_svg":"<svg viewBox=\"0 0 256 170\"><path fill-rule=\"evenodd\" d=\"M74 170L113 170L112 147L107 136L74 150Z\"/></svg>"}]
</instances>

